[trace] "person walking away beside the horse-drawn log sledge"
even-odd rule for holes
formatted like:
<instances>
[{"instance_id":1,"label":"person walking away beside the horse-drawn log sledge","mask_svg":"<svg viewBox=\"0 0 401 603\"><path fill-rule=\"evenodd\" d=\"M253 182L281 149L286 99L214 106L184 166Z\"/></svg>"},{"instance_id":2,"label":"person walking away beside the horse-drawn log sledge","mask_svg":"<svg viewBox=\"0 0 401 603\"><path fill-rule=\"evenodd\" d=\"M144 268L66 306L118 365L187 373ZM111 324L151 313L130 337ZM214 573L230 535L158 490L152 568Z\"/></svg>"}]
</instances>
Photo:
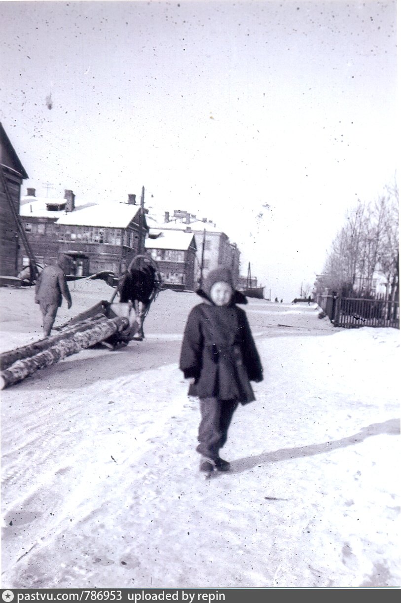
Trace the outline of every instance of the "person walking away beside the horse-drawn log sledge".
<instances>
[{"instance_id":1,"label":"person walking away beside the horse-drawn log sledge","mask_svg":"<svg viewBox=\"0 0 401 603\"><path fill-rule=\"evenodd\" d=\"M43 316L43 333L48 337L57 315L57 310L62 305L63 297L68 309L72 306L66 274L69 273L71 260L69 256L62 255L57 265L46 266L36 281L35 303L39 303Z\"/></svg>"}]
</instances>

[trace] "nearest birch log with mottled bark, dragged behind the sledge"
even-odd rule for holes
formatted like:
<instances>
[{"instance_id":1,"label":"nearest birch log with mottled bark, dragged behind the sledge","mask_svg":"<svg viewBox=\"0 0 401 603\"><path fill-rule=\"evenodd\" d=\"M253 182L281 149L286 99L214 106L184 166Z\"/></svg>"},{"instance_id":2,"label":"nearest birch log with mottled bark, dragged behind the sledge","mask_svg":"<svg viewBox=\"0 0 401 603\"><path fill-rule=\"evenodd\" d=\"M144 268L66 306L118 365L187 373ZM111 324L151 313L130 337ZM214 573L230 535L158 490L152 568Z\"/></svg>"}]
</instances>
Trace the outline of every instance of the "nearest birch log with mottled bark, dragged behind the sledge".
<instances>
[{"instance_id":1,"label":"nearest birch log with mottled bark, dragged behind the sledge","mask_svg":"<svg viewBox=\"0 0 401 603\"><path fill-rule=\"evenodd\" d=\"M127 318L106 318L92 324L86 330L64 333L62 339L55 341L48 349L24 359L17 360L0 373L0 390L13 385L40 368L49 367L55 362L71 356L84 348L94 346L128 327ZM49 338L50 339L50 338Z\"/></svg>"}]
</instances>

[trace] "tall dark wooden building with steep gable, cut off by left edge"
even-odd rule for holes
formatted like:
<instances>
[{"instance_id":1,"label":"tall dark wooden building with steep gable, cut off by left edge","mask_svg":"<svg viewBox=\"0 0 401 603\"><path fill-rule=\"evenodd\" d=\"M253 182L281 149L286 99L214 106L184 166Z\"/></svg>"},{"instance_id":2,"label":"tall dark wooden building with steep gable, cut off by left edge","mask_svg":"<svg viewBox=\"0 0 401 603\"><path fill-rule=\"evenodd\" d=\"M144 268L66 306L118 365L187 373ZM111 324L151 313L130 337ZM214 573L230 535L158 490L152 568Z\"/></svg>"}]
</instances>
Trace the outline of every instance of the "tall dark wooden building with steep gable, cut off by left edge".
<instances>
[{"instance_id":1,"label":"tall dark wooden building with steep gable, cut off by left edge","mask_svg":"<svg viewBox=\"0 0 401 603\"><path fill-rule=\"evenodd\" d=\"M22 245L17 220L22 181L28 174L0 123L0 274L16 277L18 250ZM7 188L8 194L5 191ZM11 202L11 204L10 204Z\"/></svg>"}]
</instances>

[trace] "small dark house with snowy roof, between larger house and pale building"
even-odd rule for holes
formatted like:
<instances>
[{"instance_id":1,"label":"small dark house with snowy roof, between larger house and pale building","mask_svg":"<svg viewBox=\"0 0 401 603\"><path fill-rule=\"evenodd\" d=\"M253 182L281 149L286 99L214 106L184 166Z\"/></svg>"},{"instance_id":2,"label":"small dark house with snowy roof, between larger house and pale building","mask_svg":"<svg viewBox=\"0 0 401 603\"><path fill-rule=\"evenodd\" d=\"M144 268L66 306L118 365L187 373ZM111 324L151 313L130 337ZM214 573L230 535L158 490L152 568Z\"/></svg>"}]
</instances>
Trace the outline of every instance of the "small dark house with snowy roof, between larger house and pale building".
<instances>
[{"instance_id":1,"label":"small dark house with snowy roof, between larger house and pale building","mask_svg":"<svg viewBox=\"0 0 401 603\"><path fill-rule=\"evenodd\" d=\"M196 288L194 267L197 244L194 233L151 229L145 249L157 262L165 286L172 289Z\"/></svg>"}]
</instances>

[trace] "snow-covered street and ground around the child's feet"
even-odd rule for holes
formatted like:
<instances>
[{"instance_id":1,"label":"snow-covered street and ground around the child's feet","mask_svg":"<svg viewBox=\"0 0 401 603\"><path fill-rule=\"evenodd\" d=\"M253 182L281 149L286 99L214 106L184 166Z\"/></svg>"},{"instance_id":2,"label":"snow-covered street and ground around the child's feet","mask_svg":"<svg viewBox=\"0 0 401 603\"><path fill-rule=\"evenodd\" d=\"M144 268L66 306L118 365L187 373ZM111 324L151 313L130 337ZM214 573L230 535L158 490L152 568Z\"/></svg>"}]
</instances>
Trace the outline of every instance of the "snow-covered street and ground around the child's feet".
<instances>
[{"instance_id":1,"label":"snow-covered street and ground around the child's feet","mask_svg":"<svg viewBox=\"0 0 401 603\"><path fill-rule=\"evenodd\" d=\"M71 291L57 324L112 292ZM399 587L399 331L250 300L265 380L204 481L177 364L198 301L163 291L143 342L2 391L2 587ZM40 338L32 289L0 304L1 351Z\"/></svg>"}]
</instances>

